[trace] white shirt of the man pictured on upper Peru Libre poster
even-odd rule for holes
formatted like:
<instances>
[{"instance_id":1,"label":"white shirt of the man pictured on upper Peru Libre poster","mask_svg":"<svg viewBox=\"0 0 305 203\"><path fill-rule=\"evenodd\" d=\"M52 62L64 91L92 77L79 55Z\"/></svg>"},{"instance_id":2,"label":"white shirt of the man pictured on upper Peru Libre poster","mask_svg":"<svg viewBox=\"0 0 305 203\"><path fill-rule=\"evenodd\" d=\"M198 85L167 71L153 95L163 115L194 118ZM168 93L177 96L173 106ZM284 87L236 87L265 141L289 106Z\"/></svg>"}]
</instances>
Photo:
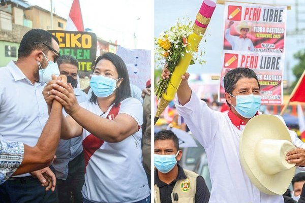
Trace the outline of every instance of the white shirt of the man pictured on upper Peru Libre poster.
<instances>
[{"instance_id":1,"label":"white shirt of the man pictured on upper Peru Libre poster","mask_svg":"<svg viewBox=\"0 0 305 203\"><path fill-rule=\"evenodd\" d=\"M234 51L254 51L254 46L249 38L243 39L242 37L230 35L230 29L225 31L225 38L231 44Z\"/></svg>"}]
</instances>

